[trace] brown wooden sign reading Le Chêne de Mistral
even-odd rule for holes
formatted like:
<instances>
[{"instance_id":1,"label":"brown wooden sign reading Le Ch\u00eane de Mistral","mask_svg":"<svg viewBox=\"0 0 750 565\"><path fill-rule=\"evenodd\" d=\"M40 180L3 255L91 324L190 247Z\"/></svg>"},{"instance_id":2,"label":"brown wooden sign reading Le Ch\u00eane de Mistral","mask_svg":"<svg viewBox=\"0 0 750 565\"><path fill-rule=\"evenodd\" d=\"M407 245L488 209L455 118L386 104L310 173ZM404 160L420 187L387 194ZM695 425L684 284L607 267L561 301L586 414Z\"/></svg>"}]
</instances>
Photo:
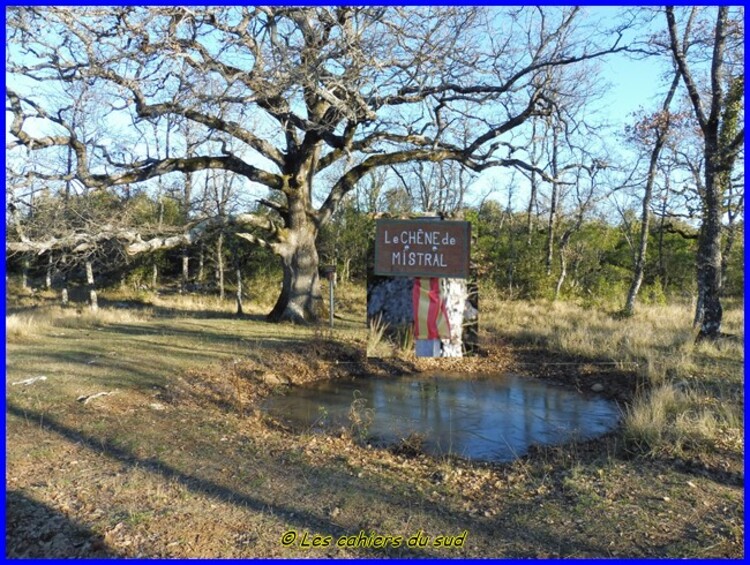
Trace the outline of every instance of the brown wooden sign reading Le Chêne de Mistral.
<instances>
[{"instance_id":1,"label":"brown wooden sign reading Le Ch\u00eane de Mistral","mask_svg":"<svg viewBox=\"0 0 750 565\"><path fill-rule=\"evenodd\" d=\"M469 277L469 222L378 220L375 274L391 277Z\"/></svg>"}]
</instances>

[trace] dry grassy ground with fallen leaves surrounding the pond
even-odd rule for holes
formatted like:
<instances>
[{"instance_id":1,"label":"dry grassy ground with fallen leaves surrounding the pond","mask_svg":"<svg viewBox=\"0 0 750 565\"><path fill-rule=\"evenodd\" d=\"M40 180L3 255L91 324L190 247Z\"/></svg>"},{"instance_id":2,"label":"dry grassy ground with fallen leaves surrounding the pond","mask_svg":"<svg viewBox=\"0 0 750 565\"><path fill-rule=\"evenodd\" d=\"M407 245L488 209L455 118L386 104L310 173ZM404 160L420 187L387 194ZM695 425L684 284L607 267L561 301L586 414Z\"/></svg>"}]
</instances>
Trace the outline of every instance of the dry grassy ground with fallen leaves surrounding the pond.
<instances>
[{"instance_id":1,"label":"dry grassy ground with fallen leaves surrounding the pond","mask_svg":"<svg viewBox=\"0 0 750 565\"><path fill-rule=\"evenodd\" d=\"M349 365L324 363L326 348L366 348L363 289L337 293L333 332L270 325L256 304L238 319L229 299L147 296L126 309L107 306L126 294L102 293L96 315L11 303L6 380L48 380L7 388L6 489L18 501L6 513L8 556L742 555L741 345L693 345L676 306L616 320L483 299L490 363L535 348L541 364L567 355L598 378L609 365L597 362L614 363L613 379L644 386L622 429L601 440L503 465L434 459L418 437L392 450L357 441L369 405L353 405L353 429L330 435L292 432L258 410L251 393L267 372L330 376ZM727 308L725 331L741 335L742 320ZM44 532L61 522L84 528L90 545L51 543ZM469 533L461 549L302 549L280 543L289 529Z\"/></svg>"}]
</instances>

